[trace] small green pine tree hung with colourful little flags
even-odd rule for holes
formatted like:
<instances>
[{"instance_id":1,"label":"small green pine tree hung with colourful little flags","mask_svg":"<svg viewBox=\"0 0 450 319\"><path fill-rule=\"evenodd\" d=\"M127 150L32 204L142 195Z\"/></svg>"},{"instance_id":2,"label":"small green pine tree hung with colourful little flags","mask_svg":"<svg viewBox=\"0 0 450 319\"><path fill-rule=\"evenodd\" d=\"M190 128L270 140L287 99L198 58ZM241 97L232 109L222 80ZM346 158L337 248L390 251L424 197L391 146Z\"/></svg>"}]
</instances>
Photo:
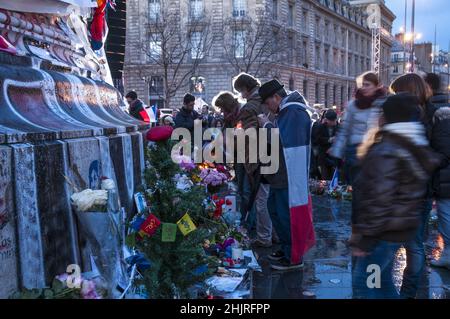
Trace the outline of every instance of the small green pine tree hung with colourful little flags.
<instances>
[{"instance_id":1,"label":"small green pine tree hung with colourful little flags","mask_svg":"<svg viewBox=\"0 0 450 319\"><path fill-rule=\"evenodd\" d=\"M205 188L177 188L175 175L183 172L171 159L172 146L170 140L158 140L146 150L149 212L143 218L152 214L161 224L151 235L135 235L136 247L151 263L141 282L151 299L189 298L189 288L210 275L202 247L210 234L207 227L198 227L205 218Z\"/></svg>"}]
</instances>

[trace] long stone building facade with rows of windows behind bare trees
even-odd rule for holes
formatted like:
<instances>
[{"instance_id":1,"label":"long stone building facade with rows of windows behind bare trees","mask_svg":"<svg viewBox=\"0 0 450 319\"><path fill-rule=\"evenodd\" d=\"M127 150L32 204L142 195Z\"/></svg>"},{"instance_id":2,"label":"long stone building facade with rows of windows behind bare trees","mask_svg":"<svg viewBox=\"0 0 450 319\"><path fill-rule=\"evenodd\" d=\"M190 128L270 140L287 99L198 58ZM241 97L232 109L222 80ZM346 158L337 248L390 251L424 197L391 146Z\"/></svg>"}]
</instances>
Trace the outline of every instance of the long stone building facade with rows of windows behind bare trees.
<instances>
[{"instance_id":1,"label":"long stone building facade with rows of windows behind bare trees","mask_svg":"<svg viewBox=\"0 0 450 319\"><path fill-rule=\"evenodd\" d=\"M149 41L149 12L166 1L127 1L125 89L135 90L146 103L160 106L164 105L165 85L159 76L161 70L149 63L134 43ZM170 107L181 107L182 96L189 91L210 103L219 91L232 89L232 78L239 72L224 58L224 38L233 19L257 21L263 14L271 20L272 28L286 33L282 52L269 62L272 72L261 80L277 77L288 89L302 92L311 105L344 105L355 90L355 77L371 68L367 15L363 8L351 7L345 0L171 0L169 6L180 12L182 26L189 23L193 9L201 10L210 23L213 39L209 54L200 61L196 74L189 77L195 83L179 90ZM390 34L395 16L384 4L381 14L384 35L380 75L388 83L393 43ZM195 84L199 82L201 89L197 90Z\"/></svg>"}]
</instances>

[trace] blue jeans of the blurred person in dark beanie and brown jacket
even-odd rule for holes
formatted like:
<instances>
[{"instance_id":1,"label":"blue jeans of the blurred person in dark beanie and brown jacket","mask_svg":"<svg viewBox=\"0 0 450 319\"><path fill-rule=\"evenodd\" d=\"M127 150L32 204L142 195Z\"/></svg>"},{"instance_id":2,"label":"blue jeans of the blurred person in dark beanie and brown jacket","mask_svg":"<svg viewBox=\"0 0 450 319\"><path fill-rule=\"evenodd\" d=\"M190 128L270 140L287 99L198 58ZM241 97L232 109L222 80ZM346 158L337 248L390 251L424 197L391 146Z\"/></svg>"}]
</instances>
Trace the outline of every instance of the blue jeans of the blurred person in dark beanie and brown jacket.
<instances>
[{"instance_id":1,"label":"blue jeans of the blurred person in dark beanie and brown jacket","mask_svg":"<svg viewBox=\"0 0 450 319\"><path fill-rule=\"evenodd\" d=\"M354 257L352 270L354 299L397 299L399 294L395 288L392 269L395 255L401 244L379 241L369 255ZM370 265L379 266L379 273L368 269ZM379 277L377 278L377 274ZM379 286L371 288L369 284L379 282Z\"/></svg>"}]
</instances>

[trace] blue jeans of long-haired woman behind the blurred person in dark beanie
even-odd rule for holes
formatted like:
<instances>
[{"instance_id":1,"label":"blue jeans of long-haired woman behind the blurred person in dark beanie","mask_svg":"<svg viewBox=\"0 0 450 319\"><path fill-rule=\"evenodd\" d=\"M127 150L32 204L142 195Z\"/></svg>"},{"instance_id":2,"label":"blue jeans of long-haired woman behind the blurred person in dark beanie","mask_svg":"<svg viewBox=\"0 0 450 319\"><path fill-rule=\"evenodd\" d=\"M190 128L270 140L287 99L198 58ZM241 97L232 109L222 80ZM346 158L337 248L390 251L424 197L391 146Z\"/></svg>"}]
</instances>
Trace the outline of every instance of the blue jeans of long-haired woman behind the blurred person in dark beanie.
<instances>
[{"instance_id":1,"label":"blue jeans of long-haired woman behind the blurred person in dark beanie","mask_svg":"<svg viewBox=\"0 0 450 319\"><path fill-rule=\"evenodd\" d=\"M425 229L432 208L432 200L427 199L422 206L422 220L416 236L404 244L406 250L406 268L400 294L402 298L415 298L425 269Z\"/></svg>"}]
</instances>

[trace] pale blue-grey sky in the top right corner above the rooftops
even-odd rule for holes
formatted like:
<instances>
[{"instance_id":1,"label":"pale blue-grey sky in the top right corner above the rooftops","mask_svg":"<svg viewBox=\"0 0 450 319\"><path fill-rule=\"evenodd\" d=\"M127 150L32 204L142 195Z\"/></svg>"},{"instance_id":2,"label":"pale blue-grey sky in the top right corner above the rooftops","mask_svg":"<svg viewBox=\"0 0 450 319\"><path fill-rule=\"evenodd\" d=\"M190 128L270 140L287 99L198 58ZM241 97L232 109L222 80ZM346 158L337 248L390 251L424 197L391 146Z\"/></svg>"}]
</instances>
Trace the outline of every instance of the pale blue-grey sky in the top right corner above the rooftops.
<instances>
[{"instance_id":1,"label":"pale blue-grey sky in the top right corner above the rooftops","mask_svg":"<svg viewBox=\"0 0 450 319\"><path fill-rule=\"evenodd\" d=\"M386 0L386 5L397 16L392 33L398 33L404 25L405 0ZM407 32L411 32L412 0L408 0ZM440 49L448 50L450 41L450 1L416 0L416 32L423 37L416 42L434 42L434 26L437 26L437 44Z\"/></svg>"}]
</instances>

